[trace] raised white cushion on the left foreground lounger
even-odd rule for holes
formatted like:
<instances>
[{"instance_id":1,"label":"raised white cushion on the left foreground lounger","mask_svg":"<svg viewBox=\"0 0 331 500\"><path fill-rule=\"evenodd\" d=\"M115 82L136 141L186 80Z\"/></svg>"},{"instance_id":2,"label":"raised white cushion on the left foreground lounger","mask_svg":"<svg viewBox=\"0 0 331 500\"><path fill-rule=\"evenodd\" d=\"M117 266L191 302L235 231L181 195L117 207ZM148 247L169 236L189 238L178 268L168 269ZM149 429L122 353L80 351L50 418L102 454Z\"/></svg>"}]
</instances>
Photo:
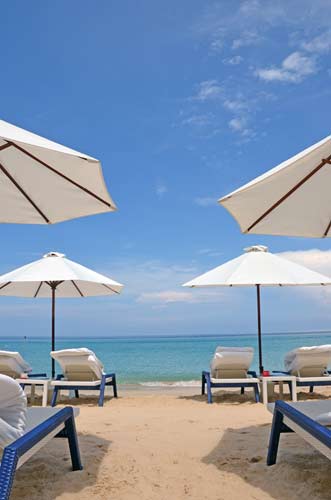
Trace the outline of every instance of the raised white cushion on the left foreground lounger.
<instances>
[{"instance_id":1,"label":"raised white cushion on the left foreground lounger","mask_svg":"<svg viewBox=\"0 0 331 500\"><path fill-rule=\"evenodd\" d=\"M11 377L0 375L0 448L24 434L26 396Z\"/></svg>"}]
</instances>

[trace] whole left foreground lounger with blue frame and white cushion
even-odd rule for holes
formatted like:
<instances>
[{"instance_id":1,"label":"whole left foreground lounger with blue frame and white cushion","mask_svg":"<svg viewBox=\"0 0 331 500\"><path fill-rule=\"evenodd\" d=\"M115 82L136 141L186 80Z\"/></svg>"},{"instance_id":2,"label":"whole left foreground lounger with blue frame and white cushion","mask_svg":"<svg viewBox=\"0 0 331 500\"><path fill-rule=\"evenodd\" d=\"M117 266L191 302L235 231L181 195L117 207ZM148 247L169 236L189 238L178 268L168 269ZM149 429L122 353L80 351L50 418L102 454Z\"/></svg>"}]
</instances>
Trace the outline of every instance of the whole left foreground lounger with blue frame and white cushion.
<instances>
[{"instance_id":1,"label":"whole left foreground lounger with blue frame and white cushion","mask_svg":"<svg viewBox=\"0 0 331 500\"><path fill-rule=\"evenodd\" d=\"M73 409L27 408L19 384L0 375L1 500L10 497L16 470L53 437L68 439L72 468L81 470Z\"/></svg>"}]
</instances>

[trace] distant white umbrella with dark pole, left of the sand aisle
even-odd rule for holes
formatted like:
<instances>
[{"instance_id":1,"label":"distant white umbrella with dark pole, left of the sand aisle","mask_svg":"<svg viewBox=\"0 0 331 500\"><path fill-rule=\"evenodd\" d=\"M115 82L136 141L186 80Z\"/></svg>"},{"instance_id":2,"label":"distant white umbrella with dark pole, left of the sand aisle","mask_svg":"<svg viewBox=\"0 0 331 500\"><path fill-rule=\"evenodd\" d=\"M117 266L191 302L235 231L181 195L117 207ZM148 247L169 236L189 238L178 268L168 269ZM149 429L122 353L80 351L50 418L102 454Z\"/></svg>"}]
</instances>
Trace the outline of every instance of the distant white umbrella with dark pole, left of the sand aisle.
<instances>
[{"instance_id":1,"label":"distant white umbrella with dark pole, left of the sand aisle","mask_svg":"<svg viewBox=\"0 0 331 500\"><path fill-rule=\"evenodd\" d=\"M92 297L119 294L123 285L50 252L14 271L0 276L0 295L52 298L52 351L55 350L55 297ZM52 359L52 377L55 364Z\"/></svg>"}]
</instances>

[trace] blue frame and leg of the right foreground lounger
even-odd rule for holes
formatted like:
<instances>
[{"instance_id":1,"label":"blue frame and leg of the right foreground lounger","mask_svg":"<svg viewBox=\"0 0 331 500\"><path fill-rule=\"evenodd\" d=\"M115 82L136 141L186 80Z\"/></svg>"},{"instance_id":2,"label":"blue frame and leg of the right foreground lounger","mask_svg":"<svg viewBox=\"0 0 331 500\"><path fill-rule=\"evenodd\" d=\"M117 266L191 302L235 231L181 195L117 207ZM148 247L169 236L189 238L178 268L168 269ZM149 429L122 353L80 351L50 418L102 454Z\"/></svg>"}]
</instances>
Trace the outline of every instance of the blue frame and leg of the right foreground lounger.
<instances>
[{"instance_id":1,"label":"blue frame and leg of the right foreground lounger","mask_svg":"<svg viewBox=\"0 0 331 500\"><path fill-rule=\"evenodd\" d=\"M288 425L284 424L284 417L301 427L305 432L331 450L330 429L319 424L284 401L276 401L269 438L267 465L274 465L276 463L281 433L295 432Z\"/></svg>"}]
</instances>

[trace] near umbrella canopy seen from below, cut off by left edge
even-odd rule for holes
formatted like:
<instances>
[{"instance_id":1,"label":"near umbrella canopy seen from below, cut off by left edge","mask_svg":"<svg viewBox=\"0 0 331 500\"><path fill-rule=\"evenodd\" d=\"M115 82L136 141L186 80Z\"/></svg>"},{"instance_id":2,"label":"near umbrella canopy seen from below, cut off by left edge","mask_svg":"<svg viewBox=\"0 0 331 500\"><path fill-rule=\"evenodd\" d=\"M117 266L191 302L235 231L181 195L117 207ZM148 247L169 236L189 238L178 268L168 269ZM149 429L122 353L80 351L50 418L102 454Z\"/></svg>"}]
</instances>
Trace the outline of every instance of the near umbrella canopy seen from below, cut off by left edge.
<instances>
[{"instance_id":1,"label":"near umbrella canopy seen from below, cut off by left edge","mask_svg":"<svg viewBox=\"0 0 331 500\"><path fill-rule=\"evenodd\" d=\"M0 120L0 222L52 224L113 210L99 160Z\"/></svg>"}]
</instances>

